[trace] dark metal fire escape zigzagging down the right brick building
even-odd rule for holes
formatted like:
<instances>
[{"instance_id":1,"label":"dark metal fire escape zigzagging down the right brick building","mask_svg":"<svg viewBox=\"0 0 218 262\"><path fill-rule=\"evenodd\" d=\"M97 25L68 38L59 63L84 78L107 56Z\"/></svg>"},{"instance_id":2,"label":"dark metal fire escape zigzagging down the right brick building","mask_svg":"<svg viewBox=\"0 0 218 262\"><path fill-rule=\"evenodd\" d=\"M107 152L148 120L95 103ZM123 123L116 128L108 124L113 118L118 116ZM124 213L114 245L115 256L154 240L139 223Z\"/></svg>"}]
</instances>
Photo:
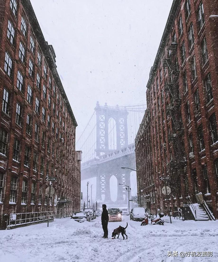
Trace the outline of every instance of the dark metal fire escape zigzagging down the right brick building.
<instances>
[{"instance_id":1,"label":"dark metal fire escape zigzagging down the right brick building","mask_svg":"<svg viewBox=\"0 0 218 262\"><path fill-rule=\"evenodd\" d=\"M186 176L186 159L183 145L184 127L181 116L181 97L179 92L179 67L175 58L177 50L176 39L172 39L167 48L167 56L163 61L165 70L168 70L168 79L165 81L165 94L169 95L169 104L166 107L167 121L171 120L172 129L168 134L168 142L172 143L174 155L171 154L167 168L170 173L171 193L181 197L181 179ZM185 181L184 181L185 182ZM185 182L186 183L186 182Z\"/></svg>"}]
</instances>

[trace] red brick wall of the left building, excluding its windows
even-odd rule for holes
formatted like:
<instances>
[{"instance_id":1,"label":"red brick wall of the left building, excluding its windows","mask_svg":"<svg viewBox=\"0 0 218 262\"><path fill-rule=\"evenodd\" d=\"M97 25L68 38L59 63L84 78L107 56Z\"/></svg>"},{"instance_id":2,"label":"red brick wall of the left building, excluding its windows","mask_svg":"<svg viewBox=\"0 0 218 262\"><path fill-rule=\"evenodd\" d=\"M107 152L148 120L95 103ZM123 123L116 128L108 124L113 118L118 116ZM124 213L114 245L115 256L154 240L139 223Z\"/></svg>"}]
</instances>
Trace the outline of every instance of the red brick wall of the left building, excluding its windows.
<instances>
[{"instance_id":1,"label":"red brick wall of the left building, excluding its windows","mask_svg":"<svg viewBox=\"0 0 218 262\"><path fill-rule=\"evenodd\" d=\"M22 4L24 2L24 5ZM53 182L55 194L57 198L62 199L64 196L70 200L67 204L57 204L54 206L54 197L52 200L52 206L50 210L54 210L58 217L68 216L73 211L80 210L80 161L77 161L77 154L75 151L75 129L77 126L76 120L70 108L68 99L63 90L63 86L60 82L56 66L49 53L49 46L44 41L42 32L38 27L36 18L31 9L30 1L17 1L18 13L15 17L10 9L10 0L0 1L0 17L4 17L0 21L0 108L2 108L3 90L6 88L10 94L10 107L9 116L2 110L0 111L1 124L0 128L3 128L8 132L7 150L6 156L0 154L0 168L4 175L4 187L2 203L0 203L0 228L5 228L4 214L17 212L36 212L47 211L49 206L44 205L45 190L48 186L48 182L45 181L46 174L48 176L56 177L57 182ZM3 14L3 15L2 15ZM27 24L27 36L25 37L20 30L21 15L25 18ZM8 19L12 22L15 28L15 43L14 46L10 43L7 37ZM2 39L1 39L2 35ZM30 35L35 41L35 52L32 53L30 49ZM25 61L21 62L19 58L19 43L25 46ZM5 51L7 51L13 61L13 76L10 78L4 71L4 59ZM41 53L41 66L37 64L37 51ZM34 75L31 77L28 72L29 58L34 64ZM50 76L52 85L49 88L49 81L44 78L43 65L47 66L47 74ZM20 72L24 76L24 92L22 93L17 88L17 72ZM36 87L36 74L40 75L41 83L40 89ZM30 85L33 92L32 103L27 101L27 85ZM47 97L43 98L42 87L43 84L47 89ZM56 92L53 92L53 85L56 87ZM57 100L57 93L59 94L59 101ZM48 107L48 95L51 96L51 107ZM40 100L40 114L35 111L35 98L36 96ZM62 106L60 105L62 101ZM16 103L19 102L22 106L22 123L21 127L15 123L16 119ZM52 102L55 104L55 114L52 112ZM46 110L45 122L42 120L42 106ZM64 109L65 108L65 112ZM56 117L56 110L59 111L59 118ZM31 135L26 133L26 117L30 114L32 117L32 133ZM50 115L51 126L47 125L47 115ZM60 123L60 117L62 121ZM55 133L52 133L52 121L58 128L58 139L55 138ZM63 127L63 122L65 126ZM35 138L35 123L39 125L39 142ZM42 130L46 134L45 146L42 147ZM59 133L61 133L62 140L59 140ZM20 141L20 154L19 162L13 160L13 145L14 139ZM50 152L48 150L48 138L50 138ZM54 143L54 156L52 156L52 144ZM30 161L29 167L24 166L24 151L25 146L30 147ZM56 154L58 149L58 155ZM33 152L38 154L38 170L33 171ZM41 157L44 158L44 172L40 173ZM49 169L47 168L49 163ZM53 169L52 169L53 166ZM16 190L16 204L9 204L10 196L10 181L12 174L17 177L17 190ZM23 178L27 180L27 201L26 205L21 205L22 197L22 183ZM35 205L31 205L31 186L32 182L36 183L36 198ZM39 186L43 185L42 204L38 205L39 199Z\"/></svg>"}]
</instances>

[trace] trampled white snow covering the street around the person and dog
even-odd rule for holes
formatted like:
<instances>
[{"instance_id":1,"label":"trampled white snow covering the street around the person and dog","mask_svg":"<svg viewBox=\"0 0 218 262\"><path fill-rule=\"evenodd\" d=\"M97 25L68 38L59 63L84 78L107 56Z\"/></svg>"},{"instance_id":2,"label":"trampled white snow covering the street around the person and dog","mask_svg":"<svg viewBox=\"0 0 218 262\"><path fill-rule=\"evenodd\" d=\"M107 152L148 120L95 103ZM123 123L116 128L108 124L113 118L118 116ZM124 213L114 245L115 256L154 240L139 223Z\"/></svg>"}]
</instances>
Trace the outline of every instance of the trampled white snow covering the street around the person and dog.
<instances>
[{"instance_id":1,"label":"trampled white snow covering the street around the person and dog","mask_svg":"<svg viewBox=\"0 0 218 262\"><path fill-rule=\"evenodd\" d=\"M164 217L164 226L140 226L122 216L108 223L103 239L100 217L79 223L70 218L53 223L0 231L0 262L171 262L218 261L218 221L182 221ZM111 239L119 225L128 227L128 239ZM213 252L212 257L167 257L167 251Z\"/></svg>"}]
</instances>

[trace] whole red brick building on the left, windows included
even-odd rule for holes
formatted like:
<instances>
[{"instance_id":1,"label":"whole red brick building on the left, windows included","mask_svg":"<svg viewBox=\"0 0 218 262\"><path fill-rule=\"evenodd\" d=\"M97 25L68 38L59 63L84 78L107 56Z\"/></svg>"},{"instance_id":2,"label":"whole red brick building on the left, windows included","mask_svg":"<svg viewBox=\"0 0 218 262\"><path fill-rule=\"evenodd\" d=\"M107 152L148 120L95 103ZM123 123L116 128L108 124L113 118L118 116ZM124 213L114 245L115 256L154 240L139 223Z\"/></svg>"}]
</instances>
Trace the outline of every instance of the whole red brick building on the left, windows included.
<instances>
[{"instance_id":1,"label":"whole red brick building on the left, windows included","mask_svg":"<svg viewBox=\"0 0 218 262\"><path fill-rule=\"evenodd\" d=\"M0 0L0 107L0 228L12 213L80 210L77 123L29 0Z\"/></svg>"}]
</instances>

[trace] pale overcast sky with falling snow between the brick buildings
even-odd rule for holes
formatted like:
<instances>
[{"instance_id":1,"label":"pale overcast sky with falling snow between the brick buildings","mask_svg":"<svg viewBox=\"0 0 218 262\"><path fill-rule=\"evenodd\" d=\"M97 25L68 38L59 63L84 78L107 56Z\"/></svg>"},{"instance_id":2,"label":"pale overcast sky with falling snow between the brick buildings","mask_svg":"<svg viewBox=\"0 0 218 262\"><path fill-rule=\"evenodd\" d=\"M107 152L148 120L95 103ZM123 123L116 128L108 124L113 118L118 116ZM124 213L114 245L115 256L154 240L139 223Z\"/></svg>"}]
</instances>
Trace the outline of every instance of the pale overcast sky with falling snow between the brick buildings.
<instances>
[{"instance_id":1,"label":"pale overcast sky with falling snow between the brick buildings","mask_svg":"<svg viewBox=\"0 0 218 262\"><path fill-rule=\"evenodd\" d=\"M54 47L57 70L78 123L77 138L96 101L102 105L146 102L150 68L172 0L31 3L45 40ZM83 192L86 183L82 183ZM134 188L135 179L131 184ZM95 185L93 192L95 197Z\"/></svg>"}]
</instances>

